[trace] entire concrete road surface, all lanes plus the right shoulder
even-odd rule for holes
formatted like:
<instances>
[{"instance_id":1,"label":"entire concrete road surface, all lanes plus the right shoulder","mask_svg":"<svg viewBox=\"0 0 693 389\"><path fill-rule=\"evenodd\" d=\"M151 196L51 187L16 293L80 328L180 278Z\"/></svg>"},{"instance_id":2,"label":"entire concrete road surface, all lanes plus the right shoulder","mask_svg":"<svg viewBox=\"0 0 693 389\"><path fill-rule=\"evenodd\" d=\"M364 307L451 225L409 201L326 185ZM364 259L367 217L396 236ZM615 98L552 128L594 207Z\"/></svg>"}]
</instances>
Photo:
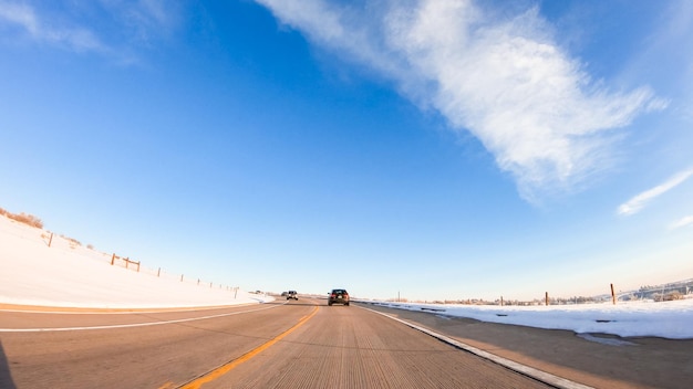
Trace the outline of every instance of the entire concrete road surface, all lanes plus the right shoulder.
<instances>
[{"instance_id":1,"label":"entire concrete road surface, all lanes plus the right shoulder","mask_svg":"<svg viewBox=\"0 0 693 389\"><path fill-rule=\"evenodd\" d=\"M15 308L0 305L1 389L683 389L693 381L693 340L578 336L353 302Z\"/></svg>"}]
</instances>

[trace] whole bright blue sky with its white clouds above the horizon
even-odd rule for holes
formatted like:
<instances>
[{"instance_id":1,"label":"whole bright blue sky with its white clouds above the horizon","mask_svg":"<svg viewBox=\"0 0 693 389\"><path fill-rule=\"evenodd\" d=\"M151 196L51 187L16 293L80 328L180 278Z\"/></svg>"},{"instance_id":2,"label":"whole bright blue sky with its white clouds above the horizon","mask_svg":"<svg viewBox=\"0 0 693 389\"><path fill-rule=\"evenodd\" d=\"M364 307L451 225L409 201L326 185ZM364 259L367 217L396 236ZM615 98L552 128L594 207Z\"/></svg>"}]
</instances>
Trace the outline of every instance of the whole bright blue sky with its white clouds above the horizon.
<instances>
[{"instance_id":1,"label":"whole bright blue sky with its white clouds above the horizon","mask_svg":"<svg viewBox=\"0 0 693 389\"><path fill-rule=\"evenodd\" d=\"M687 1L0 0L0 207L247 290L693 276Z\"/></svg>"}]
</instances>

